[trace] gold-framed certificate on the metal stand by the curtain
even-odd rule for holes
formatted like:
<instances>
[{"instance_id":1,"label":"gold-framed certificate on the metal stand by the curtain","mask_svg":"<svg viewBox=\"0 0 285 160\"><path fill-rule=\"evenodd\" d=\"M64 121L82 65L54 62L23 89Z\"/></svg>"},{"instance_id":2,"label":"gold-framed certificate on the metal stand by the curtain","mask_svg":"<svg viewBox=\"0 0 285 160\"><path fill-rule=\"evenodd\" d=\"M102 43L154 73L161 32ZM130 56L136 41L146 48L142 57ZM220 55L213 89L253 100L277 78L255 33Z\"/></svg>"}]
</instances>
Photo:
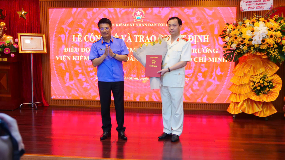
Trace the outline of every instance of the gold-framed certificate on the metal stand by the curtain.
<instances>
[{"instance_id":1,"label":"gold-framed certificate on the metal stand by the curtain","mask_svg":"<svg viewBox=\"0 0 285 160\"><path fill-rule=\"evenodd\" d=\"M47 53L45 34L18 33L19 53Z\"/></svg>"}]
</instances>

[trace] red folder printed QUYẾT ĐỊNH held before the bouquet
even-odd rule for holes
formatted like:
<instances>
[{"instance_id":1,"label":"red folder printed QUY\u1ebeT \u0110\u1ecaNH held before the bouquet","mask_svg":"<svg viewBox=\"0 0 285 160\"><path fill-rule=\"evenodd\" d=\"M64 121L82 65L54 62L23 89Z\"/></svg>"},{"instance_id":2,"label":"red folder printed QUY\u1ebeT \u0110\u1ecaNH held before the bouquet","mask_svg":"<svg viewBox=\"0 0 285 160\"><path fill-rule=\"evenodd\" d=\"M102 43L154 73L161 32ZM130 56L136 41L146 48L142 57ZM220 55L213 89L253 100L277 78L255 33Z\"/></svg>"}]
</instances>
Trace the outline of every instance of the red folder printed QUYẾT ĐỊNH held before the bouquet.
<instances>
[{"instance_id":1,"label":"red folder printed QUY\u1ebeT \u0110\u1ecaNH held before the bouquet","mask_svg":"<svg viewBox=\"0 0 285 160\"><path fill-rule=\"evenodd\" d=\"M160 77L160 73L157 72L161 70L161 62L161 55L146 55L145 76Z\"/></svg>"}]
</instances>

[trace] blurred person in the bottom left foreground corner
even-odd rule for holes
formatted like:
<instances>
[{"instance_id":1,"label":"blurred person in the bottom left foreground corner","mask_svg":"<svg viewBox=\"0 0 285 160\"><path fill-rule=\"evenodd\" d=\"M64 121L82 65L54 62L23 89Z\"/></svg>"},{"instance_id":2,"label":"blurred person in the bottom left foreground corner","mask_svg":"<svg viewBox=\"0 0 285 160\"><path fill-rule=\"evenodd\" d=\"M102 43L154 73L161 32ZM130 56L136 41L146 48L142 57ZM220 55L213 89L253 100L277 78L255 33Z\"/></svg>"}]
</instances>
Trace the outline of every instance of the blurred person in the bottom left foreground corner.
<instances>
[{"instance_id":1,"label":"blurred person in the bottom left foreground corner","mask_svg":"<svg viewBox=\"0 0 285 160\"><path fill-rule=\"evenodd\" d=\"M0 113L0 160L20 160L24 144L15 119Z\"/></svg>"}]
</instances>

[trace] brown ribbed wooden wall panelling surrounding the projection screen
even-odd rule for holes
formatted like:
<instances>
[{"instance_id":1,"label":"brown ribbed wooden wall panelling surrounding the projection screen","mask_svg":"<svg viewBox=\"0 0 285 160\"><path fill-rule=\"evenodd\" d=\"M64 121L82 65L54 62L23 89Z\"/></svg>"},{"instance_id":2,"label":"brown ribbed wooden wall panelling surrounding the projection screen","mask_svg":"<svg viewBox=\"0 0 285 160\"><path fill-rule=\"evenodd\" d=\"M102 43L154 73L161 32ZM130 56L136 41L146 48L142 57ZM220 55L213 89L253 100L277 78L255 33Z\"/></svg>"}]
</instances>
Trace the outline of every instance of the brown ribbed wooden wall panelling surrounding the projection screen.
<instances>
[{"instance_id":1,"label":"brown ribbed wooden wall panelling surrounding the projection screen","mask_svg":"<svg viewBox=\"0 0 285 160\"><path fill-rule=\"evenodd\" d=\"M39 0L41 14L41 31L49 37L48 31L48 8L105 8L105 7L237 7L237 20L244 17L252 17L254 12L241 12L239 10L240 0ZM284 0L274 0L273 8L285 6ZM256 11L258 15L265 15L267 11ZM229 22L231 23L231 22ZM47 39L49 46L49 39ZM51 99L50 89L50 51L42 55L43 86L46 99L50 105L65 106L100 106L99 100L60 100ZM279 97L273 102L278 112L282 112L285 96L285 65L280 66L277 74L284 81ZM113 102L111 106L113 106ZM126 108L161 108L161 102L125 101ZM227 110L228 104L217 103L184 103L184 109L194 110Z\"/></svg>"}]
</instances>

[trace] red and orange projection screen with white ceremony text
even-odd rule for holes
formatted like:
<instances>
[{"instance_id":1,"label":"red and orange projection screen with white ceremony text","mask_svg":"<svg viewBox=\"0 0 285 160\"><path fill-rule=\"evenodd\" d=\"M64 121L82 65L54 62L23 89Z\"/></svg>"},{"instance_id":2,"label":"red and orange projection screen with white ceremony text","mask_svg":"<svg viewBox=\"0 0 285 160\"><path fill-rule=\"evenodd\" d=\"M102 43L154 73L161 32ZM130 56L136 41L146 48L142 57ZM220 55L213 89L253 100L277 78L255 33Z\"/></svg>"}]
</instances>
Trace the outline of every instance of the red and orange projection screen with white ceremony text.
<instances>
[{"instance_id":1,"label":"red and orange projection screen with white ceremony text","mask_svg":"<svg viewBox=\"0 0 285 160\"><path fill-rule=\"evenodd\" d=\"M130 54L123 63L124 100L161 101L159 89L150 90L145 68L132 51L158 35L169 35L167 20L182 20L181 35L191 41L191 62L185 67L184 102L230 103L234 63L224 60L219 33L236 19L236 7L189 8L50 8L51 98L99 100L97 68L88 60L91 44L100 38L98 21L112 21L112 35L122 36ZM113 97L112 97L113 100Z\"/></svg>"}]
</instances>

